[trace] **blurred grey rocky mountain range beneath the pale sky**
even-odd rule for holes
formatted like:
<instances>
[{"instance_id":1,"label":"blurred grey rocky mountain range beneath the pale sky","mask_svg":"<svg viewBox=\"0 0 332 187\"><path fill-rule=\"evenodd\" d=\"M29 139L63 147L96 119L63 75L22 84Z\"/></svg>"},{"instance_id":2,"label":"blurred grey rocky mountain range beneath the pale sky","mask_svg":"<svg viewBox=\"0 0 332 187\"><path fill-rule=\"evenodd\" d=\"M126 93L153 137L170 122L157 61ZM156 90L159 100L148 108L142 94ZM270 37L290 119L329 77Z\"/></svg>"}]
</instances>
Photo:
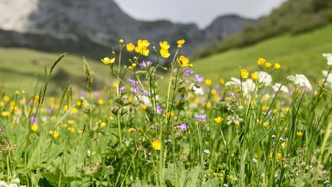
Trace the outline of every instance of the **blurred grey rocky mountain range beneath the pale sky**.
<instances>
[{"instance_id":1,"label":"blurred grey rocky mountain range beneath the pale sky","mask_svg":"<svg viewBox=\"0 0 332 187\"><path fill-rule=\"evenodd\" d=\"M204 30L196 24L138 21L112 0L2 0L0 11L0 46L98 58L109 54L120 38L133 43L148 39L152 46L163 40L176 46L176 40L185 39L183 53L189 55L199 46L224 39L253 21L228 15L217 18Z\"/></svg>"}]
</instances>

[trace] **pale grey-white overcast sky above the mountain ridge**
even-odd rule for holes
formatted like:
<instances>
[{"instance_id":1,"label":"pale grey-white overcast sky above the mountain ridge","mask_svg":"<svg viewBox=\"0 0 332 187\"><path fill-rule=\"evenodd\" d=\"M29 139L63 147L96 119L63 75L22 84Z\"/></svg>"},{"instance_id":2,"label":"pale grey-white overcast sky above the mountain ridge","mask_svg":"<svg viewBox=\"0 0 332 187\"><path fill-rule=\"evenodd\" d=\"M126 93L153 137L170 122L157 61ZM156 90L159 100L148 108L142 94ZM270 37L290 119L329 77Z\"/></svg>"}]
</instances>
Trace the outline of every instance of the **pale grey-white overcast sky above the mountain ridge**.
<instances>
[{"instance_id":1,"label":"pale grey-white overcast sky above the mountain ridge","mask_svg":"<svg viewBox=\"0 0 332 187\"><path fill-rule=\"evenodd\" d=\"M257 19L268 15L286 0L115 0L135 19L154 21L168 19L175 23L208 26L216 17L237 14Z\"/></svg>"}]
</instances>

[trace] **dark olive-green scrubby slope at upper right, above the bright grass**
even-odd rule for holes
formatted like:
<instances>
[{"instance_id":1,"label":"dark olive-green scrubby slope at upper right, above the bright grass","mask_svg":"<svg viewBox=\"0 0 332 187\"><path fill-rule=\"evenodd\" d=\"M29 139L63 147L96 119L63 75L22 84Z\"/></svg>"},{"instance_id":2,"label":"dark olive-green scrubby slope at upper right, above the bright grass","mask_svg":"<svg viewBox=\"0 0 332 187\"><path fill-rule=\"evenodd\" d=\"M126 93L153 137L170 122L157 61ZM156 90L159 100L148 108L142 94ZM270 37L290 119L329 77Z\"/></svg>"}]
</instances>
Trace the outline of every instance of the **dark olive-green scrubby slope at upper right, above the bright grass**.
<instances>
[{"instance_id":1,"label":"dark olive-green scrubby slope at upper right, above the bright grass","mask_svg":"<svg viewBox=\"0 0 332 187\"><path fill-rule=\"evenodd\" d=\"M327 26L331 22L331 0L288 0L270 15L248 24L241 32L223 41L200 48L192 57L206 57L230 48L249 46L284 33L297 35Z\"/></svg>"}]
</instances>

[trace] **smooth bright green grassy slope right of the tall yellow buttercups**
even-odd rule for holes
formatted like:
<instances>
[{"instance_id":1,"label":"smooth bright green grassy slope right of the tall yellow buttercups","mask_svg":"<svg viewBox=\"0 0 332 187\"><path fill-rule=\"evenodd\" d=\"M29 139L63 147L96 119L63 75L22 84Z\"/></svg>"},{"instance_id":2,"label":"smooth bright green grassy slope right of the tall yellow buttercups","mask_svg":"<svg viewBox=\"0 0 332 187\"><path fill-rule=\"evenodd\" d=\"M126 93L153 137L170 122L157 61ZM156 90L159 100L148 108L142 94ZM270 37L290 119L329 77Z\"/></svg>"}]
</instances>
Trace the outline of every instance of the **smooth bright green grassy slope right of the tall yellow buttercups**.
<instances>
[{"instance_id":1,"label":"smooth bright green grassy slope right of the tall yellow buttercups","mask_svg":"<svg viewBox=\"0 0 332 187\"><path fill-rule=\"evenodd\" d=\"M274 77L284 78L294 66L293 73L304 73L315 79L326 67L322 53L332 53L332 26L302 35L282 35L254 46L233 49L195 62L194 71L205 78L229 78L236 76L238 67L255 71L257 59L279 62L282 69Z\"/></svg>"}]
</instances>

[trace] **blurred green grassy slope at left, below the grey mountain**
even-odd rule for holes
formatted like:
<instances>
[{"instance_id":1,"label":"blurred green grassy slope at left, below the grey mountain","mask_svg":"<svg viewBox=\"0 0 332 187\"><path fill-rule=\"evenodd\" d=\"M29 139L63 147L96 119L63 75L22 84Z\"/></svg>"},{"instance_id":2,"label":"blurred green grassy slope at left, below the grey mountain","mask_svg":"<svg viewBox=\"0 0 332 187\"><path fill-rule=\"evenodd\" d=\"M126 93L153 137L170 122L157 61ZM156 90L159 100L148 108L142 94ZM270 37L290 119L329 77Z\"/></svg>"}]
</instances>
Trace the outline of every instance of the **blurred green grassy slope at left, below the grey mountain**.
<instances>
[{"instance_id":1,"label":"blurred green grassy slope at left, below the grey mountain","mask_svg":"<svg viewBox=\"0 0 332 187\"><path fill-rule=\"evenodd\" d=\"M46 66L49 71L59 55L60 53L51 54L22 48L0 48L0 87L10 90L35 89L38 82L44 84L44 67ZM111 84L108 66L89 59L88 62L93 71L98 72L94 76L95 88L102 88L105 82ZM66 55L55 68L51 77L51 87L65 87L68 80L71 80L72 84L80 85L80 88L86 86L82 57ZM55 88L53 87L53 91Z\"/></svg>"}]
</instances>

